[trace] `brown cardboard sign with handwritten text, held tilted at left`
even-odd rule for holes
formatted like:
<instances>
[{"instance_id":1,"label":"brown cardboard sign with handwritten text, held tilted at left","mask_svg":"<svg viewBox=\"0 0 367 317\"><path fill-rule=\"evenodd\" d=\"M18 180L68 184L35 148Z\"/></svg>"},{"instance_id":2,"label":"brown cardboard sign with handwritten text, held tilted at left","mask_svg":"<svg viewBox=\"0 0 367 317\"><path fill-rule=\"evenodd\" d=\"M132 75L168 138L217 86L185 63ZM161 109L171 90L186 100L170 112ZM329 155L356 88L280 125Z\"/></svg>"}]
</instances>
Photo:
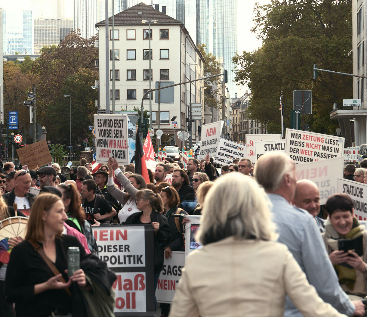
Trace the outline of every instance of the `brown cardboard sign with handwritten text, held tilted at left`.
<instances>
[{"instance_id":1,"label":"brown cardboard sign with handwritten text, held tilted at left","mask_svg":"<svg viewBox=\"0 0 367 317\"><path fill-rule=\"evenodd\" d=\"M29 144L17 150L19 161L22 165L28 165L28 169L34 169L41 167L52 162L50 150L46 140L38 141L33 144Z\"/></svg>"}]
</instances>

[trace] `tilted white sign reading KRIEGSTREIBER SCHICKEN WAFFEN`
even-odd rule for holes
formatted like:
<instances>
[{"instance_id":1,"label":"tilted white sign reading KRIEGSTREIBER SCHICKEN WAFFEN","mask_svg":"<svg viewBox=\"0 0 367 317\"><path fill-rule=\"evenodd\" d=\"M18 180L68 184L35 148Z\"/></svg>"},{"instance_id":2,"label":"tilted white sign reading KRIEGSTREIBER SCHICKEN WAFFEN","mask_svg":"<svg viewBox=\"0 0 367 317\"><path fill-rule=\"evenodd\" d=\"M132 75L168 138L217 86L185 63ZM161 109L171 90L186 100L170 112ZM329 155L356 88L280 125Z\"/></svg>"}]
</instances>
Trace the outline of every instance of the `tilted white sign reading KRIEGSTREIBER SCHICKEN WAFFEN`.
<instances>
[{"instance_id":1,"label":"tilted white sign reading KRIEGSTREIBER SCHICKEN WAFFEN","mask_svg":"<svg viewBox=\"0 0 367 317\"><path fill-rule=\"evenodd\" d=\"M219 140L218 155L214 157L213 163L219 165L230 165L236 158L241 159L246 155L246 146L224 138Z\"/></svg>"}]
</instances>

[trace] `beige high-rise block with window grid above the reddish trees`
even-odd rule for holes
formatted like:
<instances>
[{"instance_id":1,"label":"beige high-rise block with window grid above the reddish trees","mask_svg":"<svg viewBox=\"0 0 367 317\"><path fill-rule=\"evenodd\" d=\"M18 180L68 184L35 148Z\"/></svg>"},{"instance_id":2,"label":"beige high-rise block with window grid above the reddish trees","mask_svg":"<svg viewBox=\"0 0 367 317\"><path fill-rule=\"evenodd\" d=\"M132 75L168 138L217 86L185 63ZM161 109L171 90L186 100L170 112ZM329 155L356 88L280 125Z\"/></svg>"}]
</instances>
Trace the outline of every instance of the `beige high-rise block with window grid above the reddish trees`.
<instances>
[{"instance_id":1,"label":"beige high-rise block with window grid above the reddish trees","mask_svg":"<svg viewBox=\"0 0 367 317\"><path fill-rule=\"evenodd\" d=\"M35 54L44 46L57 45L74 27L73 19L66 18L35 19L33 24Z\"/></svg>"}]
</instances>

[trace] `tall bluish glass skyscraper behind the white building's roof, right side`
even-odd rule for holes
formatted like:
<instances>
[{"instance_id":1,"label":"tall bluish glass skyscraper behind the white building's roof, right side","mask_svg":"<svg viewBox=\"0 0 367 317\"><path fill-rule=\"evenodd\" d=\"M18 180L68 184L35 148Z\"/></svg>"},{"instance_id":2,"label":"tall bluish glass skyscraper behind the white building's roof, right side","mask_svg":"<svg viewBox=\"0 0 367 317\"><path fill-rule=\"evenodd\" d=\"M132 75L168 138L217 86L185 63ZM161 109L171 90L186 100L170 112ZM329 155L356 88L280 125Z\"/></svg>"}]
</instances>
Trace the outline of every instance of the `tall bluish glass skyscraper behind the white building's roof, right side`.
<instances>
[{"instance_id":1,"label":"tall bluish glass skyscraper behind the white building's roof, right side","mask_svg":"<svg viewBox=\"0 0 367 317\"><path fill-rule=\"evenodd\" d=\"M139 2L123 0L122 9ZM205 44L207 53L217 57L221 68L228 70L228 90L230 96L235 96L239 92L232 72L232 57L237 52L237 0L155 0L153 3L156 9L183 22L196 45Z\"/></svg>"}]
</instances>

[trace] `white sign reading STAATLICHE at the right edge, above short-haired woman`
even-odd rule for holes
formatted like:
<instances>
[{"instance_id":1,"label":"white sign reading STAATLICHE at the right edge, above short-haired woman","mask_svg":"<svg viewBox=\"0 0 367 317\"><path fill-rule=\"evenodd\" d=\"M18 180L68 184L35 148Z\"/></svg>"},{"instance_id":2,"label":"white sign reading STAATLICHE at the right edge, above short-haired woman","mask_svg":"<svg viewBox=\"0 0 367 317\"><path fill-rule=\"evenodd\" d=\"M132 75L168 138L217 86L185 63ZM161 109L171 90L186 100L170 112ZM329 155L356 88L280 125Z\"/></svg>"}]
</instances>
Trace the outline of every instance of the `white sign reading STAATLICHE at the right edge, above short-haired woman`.
<instances>
[{"instance_id":1,"label":"white sign reading STAATLICHE at the right edge, above short-haired woman","mask_svg":"<svg viewBox=\"0 0 367 317\"><path fill-rule=\"evenodd\" d=\"M358 220L367 218L367 185L338 177L338 193L348 194L353 199L354 214Z\"/></svg>"}]
</instances>

